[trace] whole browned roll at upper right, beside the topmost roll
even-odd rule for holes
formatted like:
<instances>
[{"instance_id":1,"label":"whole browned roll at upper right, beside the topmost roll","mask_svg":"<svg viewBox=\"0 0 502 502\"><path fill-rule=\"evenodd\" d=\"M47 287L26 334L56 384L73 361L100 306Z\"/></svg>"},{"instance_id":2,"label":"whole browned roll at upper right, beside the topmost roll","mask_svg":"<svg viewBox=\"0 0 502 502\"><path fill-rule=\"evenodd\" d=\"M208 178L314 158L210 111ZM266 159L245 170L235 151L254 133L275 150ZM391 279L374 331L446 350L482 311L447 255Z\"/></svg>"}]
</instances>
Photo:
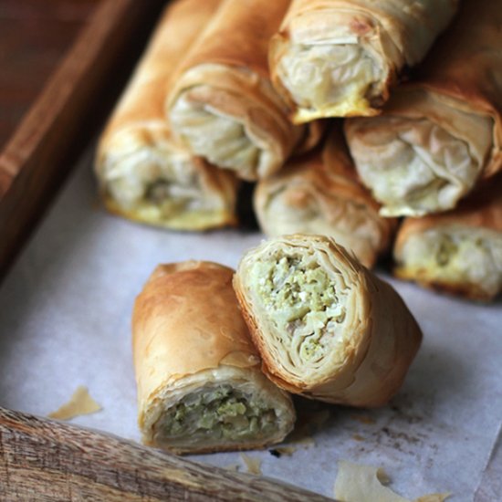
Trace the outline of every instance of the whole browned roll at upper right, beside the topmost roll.
<instances>
[{"instance_id":1,"label":"whole browned roll at upper right, beside the topmost roll","mask_svg":"<svg viewBox=\"0 0 502 502\"><path fill-rule=\"evenodd\" d=\"M382 214L453 209L501 169L501 25L497 2L465 0L382 116L347 120L350 152Z\"/></svg>"}]
</instances>

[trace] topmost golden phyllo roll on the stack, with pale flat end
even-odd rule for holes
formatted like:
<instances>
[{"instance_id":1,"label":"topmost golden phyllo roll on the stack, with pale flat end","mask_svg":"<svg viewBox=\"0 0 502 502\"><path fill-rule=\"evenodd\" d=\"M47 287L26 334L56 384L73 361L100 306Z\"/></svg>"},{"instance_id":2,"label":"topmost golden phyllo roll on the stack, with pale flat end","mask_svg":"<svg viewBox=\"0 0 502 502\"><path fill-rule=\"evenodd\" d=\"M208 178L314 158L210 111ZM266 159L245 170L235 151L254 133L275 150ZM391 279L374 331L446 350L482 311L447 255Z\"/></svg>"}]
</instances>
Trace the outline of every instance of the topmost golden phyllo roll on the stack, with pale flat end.
<instances>
[{"instance_id":1,"label":"topmost golden phyllo roll on the stack, with pale flat end","mask_svg":"<svg viewBox=\"0 0 502 502\"><path fill-rule=\"evenodd\" d=\"M293 0L270 44L274 85L302 123L371 116L424 58L455 0Z\"/></svg>"}]
</instances>

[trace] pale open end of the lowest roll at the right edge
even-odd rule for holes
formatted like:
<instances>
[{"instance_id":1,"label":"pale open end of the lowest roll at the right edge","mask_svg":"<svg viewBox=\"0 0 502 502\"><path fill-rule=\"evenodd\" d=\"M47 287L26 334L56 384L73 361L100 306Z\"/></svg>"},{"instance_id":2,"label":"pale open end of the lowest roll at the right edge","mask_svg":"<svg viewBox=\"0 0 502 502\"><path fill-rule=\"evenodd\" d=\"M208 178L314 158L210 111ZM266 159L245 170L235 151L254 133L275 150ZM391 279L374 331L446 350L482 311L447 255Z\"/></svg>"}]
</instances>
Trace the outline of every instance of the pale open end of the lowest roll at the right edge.
<instances>
[{"instance_id":1,"label":"pale open end of the lowest roll at the right edge","mask_svg":"<svg viewBox=\"0 0 502 502\"><path fill-rule=\"evenodd\" d=\"M401 267L417 279L472 287L487 296L502 290L502 234L471 227L443 227L410 236Z\"/></svg>"}]
</instances>

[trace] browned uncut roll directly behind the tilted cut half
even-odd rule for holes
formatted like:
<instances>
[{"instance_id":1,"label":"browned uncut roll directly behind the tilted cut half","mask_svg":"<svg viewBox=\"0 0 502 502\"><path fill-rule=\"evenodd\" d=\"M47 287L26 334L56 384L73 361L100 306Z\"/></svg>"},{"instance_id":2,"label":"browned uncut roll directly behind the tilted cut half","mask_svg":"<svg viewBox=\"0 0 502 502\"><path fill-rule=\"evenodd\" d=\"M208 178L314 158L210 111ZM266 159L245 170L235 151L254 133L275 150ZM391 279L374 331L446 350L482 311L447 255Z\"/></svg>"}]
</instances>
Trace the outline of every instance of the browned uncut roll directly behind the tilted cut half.
<instances>
[{"instance_id":1,"label":"browned uncut roll directly behind the tilted cut half","mask_svg":"<svg viewBox=\"0 0 502 502\"><path fill-rule=\"evenodd\" d=\"M284 204L281 207L281 214L272 214L271 202L284 191L287 192L287 196L282 197ZM335 236L336 240L340 239L339 242L343 246L352 245L356 256L366 267L372 267L377 257L390 246L397 221L379 216L380 205L374 202L371 193L361 185L337 126L329 132L322 150L310 152L307 156L288 162L280 173L256 185L256 214L262 229L270 236L290 233L290 227L288 232L281 229L280 219L277 220L277 216L280 218L288 211L295 212L307 208L311 200L319 204L323 222L332 225L329 235ZM365 242L358 241L358 235L354 232L347 235L346 228L340 231L344 222L340 222L337 215L342 213L345 214L345 218L350 218L350 213L344 209L347 206L357 207L358 214L355 217L358 221L354 222L354 225L358 225L363 212L366 214L364 220L373 222L375 235L371 246L365 246ZM295 214L294 217L298 215ZM302 227L307 223L298 220L296 232L302 233ZM350 227L350 220L346 225ZM322 230L325 228L323 225L322 228L311 230L313 234L324 234ZM364 237L366 238L366 235ZM359 253L357 249L360 249Z\"/></svg>"}]
</instances>

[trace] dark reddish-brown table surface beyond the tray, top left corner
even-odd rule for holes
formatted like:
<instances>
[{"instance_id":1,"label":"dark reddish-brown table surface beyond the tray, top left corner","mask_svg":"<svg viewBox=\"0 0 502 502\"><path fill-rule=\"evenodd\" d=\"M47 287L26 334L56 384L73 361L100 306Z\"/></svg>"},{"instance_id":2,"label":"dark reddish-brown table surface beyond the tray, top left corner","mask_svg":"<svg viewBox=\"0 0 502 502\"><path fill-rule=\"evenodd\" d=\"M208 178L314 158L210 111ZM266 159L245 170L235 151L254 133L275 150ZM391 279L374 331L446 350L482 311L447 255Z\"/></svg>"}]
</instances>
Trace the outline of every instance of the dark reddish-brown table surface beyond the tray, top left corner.
<instances>
[{"instance_id":1,"label":"dark reddish-brown table surface beyond the tray, top left corner","mask_svg":"<svg viewBox=\"0 0 502 502\"><path fill-rule=\"evenodd\" d=\"M0 150L99 0L0 0Z\"/></svg>"}]
</instances>

